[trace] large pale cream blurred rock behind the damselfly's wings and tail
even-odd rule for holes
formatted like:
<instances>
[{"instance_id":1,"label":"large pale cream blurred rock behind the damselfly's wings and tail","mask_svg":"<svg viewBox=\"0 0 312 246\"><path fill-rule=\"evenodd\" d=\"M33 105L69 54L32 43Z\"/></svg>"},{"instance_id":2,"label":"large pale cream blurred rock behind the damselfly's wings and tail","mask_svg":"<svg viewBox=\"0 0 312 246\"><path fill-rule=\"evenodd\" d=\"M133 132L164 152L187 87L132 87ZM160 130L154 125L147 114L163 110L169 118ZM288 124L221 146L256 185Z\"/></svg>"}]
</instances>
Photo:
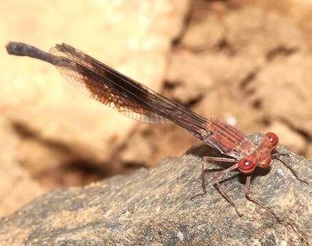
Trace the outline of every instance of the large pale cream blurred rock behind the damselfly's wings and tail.
<instances>
[{"instance_id":1,"label":"large pale cream blurred rock behind the damselfly's wings and tail","mask_svg":"<svg viewBox=\"0 0 312 246\"><path fill-rule=\"evenodd\" d=\"M32 4L38 8L36 1L30 2L29 6ZM187 1L148 1L143 4L138 1L107 1L103 5L94 2L93 5L75 5L75 10L71 3L61 4L64 6L59 8L67 10L66 18L58 16L57 22L56 10L49 8L48 4L41 6L40 16L45 16L45 19L40 25L51 25L53 30L62 30L53 36L49 45L53 45L56 38L57 42L66 40L145 85L155 90L160 87L165 54L169 51L171 38L179 31ZM66 4L70 4L71 8ZM5 7L9 9L12 5ZM84 15L86 12L88 15ZM98 21L99 15L101 22ZM34 25L41 21L40 16L32 20ZM22 29L25 16L14 18L13 27ZM79 22L75 22L76 29L71 29L69 33L61 26L65 26L71 18L78 18ZM88 30L82 27L88 27ZM99 33L101 29L106 31ZM35 33L43 35L43 31L37 27ZM86 31L88 33L84 33ZM91 31L92 36L97 34L96 38L90 38ZM7 36L10 36L9 29L8 32ZM80 36L83 38L80 39ZM71 42L71 39L76 42ZM16 40L21 40L21 37L16 37ZM32 39L21 41L32 42ZM32 44L45 49L38 40ZM130 129L136 125L134 120L77 92L52 66L21 57L8 55L5 58L1 63L7 72L0 79L10 83L1 83L0 93L5 94L0 97L3 98L2 103L10 105L11 110L3 113L11 115L15 122L34 129L40 139L58 141L69 148L75 146L82 151L80 154L96 161L109 161L114 146L125 141ZM20 68L16 68L16 64ZM25 105L25 109L21 105ZM49 159L49 156L45 158Z\"/></svg>"}]
</instances>

